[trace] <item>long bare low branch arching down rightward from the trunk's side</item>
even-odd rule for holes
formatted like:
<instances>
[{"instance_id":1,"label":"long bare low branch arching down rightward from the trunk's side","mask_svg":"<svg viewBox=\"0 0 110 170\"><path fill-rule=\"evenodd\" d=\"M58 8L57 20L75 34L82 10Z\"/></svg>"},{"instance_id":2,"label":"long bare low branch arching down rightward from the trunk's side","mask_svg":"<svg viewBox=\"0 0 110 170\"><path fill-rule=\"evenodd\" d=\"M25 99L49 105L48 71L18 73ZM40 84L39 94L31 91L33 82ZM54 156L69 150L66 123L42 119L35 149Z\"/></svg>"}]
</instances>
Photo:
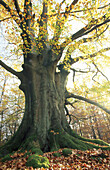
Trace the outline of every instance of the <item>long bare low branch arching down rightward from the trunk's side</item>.
<instances>
[{"instance_id":1,"label":"long bare low branch arching down rightward from the trunk's side","mask_svg":"<svg viewBox=\"0 0 110 170\"><path fill-rule=\"evenodd\" d=\"M75 99L79 99L79 100L85 101L87 103L90 103L90 104L93 104L95 106L98 106L99 108L104 110L106 113L110 114L110 110L108 110L104 106L100 105L99 103L97 103L97 102L95 102L93 100L87 99L85 97L82 97L82 96L79 96L79 95L75 95L73 93L66 92L66 98L75 98Z\"/></svg>"}]
</instances>

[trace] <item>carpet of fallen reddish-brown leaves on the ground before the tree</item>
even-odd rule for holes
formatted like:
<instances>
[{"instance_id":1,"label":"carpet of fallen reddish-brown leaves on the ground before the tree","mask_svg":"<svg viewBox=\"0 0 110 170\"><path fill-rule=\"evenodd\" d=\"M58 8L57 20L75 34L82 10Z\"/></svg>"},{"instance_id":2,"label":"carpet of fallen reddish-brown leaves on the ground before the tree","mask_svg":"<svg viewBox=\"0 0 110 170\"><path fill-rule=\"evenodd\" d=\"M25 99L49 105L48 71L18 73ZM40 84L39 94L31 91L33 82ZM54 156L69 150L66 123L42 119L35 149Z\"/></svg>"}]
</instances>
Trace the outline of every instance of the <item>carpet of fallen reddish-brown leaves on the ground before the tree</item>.
<instances>
[{"instance_id":1,"label":"carpet of fallen reddish-brown leaves on the ground before the tree","mask_svg":"<svg viewBox=\"0 0 110 170\"><path fill-rule=\"evenodd\" d=\"M53 153L61 154L60 157L53 156ZM25 153L14 153L12 160L0 162L0 170L34 170L32 167L26 167L27 157ZM49 168L36 168L39 170L110 170L110 151L93 149L80 151L72 149L72 154L64 157L62 149L55 152L44 153L49 159Z\"/></svg>"}]
</instances>

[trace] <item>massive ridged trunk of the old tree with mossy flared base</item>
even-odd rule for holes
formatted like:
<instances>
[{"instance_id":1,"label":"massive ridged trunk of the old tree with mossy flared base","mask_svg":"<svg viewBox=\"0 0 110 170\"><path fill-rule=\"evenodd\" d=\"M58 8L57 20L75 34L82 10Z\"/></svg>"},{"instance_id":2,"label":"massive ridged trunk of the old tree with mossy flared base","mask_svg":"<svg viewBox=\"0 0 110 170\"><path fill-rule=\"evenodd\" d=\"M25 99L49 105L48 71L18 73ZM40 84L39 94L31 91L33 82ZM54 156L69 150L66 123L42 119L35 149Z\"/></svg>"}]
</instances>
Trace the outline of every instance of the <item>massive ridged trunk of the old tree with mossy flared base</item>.
<instances>
[{"instance_id":1,"label":"massive ridged trunk of the old tree with mossy flared base","mask_svg":"<svg viewBox=\"0 0 110 170\"><path fill-rule=\"evenodd\" d=\"M20 77L20 89L25 95L24 117L1 153L5 155L20 147L39 148L43 152L65 147L83 150L95 147L75 134L67 122L64 103L68 72L64 69L56 72L55 62L30 55L25 59Z\"/></svg>"}]
</instances>

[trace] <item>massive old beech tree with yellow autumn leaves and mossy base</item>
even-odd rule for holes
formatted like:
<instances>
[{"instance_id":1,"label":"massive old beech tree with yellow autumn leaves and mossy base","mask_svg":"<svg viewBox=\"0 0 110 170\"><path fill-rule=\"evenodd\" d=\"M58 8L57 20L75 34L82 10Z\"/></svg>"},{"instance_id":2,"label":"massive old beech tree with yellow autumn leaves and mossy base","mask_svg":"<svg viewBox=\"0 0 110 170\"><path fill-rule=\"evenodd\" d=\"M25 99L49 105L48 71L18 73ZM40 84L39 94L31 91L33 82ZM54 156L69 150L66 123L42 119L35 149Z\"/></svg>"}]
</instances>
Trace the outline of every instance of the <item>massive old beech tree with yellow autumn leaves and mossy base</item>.
<instances>
[{"instance_id":1,"label":"massive old beech tree with yellow autumn leaves and mossy base","mask_svg":"<svg viewBox=\"0 0 110 170\"><path fill-rule=\"evenodd\" d=\"M95 0L0 0L0 22L8 20L9 27L10 23L16 27L13 32L20 32L19 48L23 54L22 71L16 71L3 60L0 65L21 81L19 88L25 96L23 120L12 139L1 148L2 154L22 146L37 147L43 152L65 147L96 147L86 143L91 139L78 136L71 129L65 105L68 98L77 98L97 105L109 114L110 111L67 91L66 82L76 62L87 59L93 62L94 58L104 56L104 52L110 50L107 46L97 50L94 45L108 30L109 5ZM83 23L79 30L74 26L76 20ZM92 142L98 143L98 140ZM103 141L100 144L105 145Z\"/></svg>"}]
</instances>

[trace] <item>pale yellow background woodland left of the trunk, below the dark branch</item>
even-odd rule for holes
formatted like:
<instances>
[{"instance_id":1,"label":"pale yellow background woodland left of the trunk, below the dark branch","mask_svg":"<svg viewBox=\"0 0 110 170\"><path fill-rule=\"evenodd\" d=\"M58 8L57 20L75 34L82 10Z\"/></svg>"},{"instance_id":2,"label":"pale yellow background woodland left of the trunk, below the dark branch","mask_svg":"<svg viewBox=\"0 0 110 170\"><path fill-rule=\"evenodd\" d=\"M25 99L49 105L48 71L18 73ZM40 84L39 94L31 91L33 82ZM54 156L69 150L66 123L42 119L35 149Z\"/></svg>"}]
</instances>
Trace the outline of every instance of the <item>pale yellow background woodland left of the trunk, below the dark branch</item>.
<instances>
[{"instance_id":1,"label":"pale yellow background woodland left of the trunk, below the dark branch","mask_svg":"<svg viewBox=\"0 0 110 170\"><path fill-rule=\"evenodd\" d=\"M15 133L23 117L24 96L19 89L15 78L10 77L1 69L1 96L0 96L0 144Z\"/></svg>"}]
</instances>

